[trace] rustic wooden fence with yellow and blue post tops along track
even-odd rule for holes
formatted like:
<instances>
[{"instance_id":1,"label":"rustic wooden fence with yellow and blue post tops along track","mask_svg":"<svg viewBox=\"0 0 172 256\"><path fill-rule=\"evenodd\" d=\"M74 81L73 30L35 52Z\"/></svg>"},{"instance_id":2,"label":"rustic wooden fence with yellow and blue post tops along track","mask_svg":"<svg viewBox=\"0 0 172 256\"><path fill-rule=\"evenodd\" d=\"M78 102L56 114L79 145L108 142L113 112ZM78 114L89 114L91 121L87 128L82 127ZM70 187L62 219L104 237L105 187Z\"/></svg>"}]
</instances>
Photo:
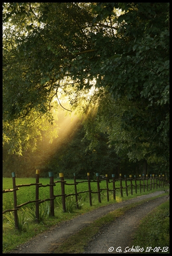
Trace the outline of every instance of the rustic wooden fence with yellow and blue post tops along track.
<instances>
[{"instance_id":1,"label":"rustic wooden fence with yellow and blue post tops along track","mask_svg":"<svg viewBox=\"0 0 172 256\"><path fill-rule=\"evenodd\" d=\"M54 216L54 199L56 197L61 197L62 198L62 206L63 206L63 212L66 212L66 197L69 196L75 196L76 198L76 205L77 208L78 207L78 196L81 193L89 193L89 199L90 199L90 206L92 206L92 194L93 193L97 193L98 194L98 202L101 203L101 192L103 190L106 190L106 194L107 194L107 201L109 201L109 191L113 191L113 199L116 199L116 190L119 189L120 190L120 195L121 197L123 197L123 189L126 190L126 195L128 196L128 189L130 188L131 190L131 195L133 194L133 190L135 190L135 193L137 193L137 189L139 188L140 192L143 191L145 192L145 190L148 190L148 186L150 186L150 190L155 189L160 187L160 186L166 186L169 185L167 182L167 179L164 177L164 175L159 175L159 177L157 177L157 175L152 175L150 174L150 177L148 177L148 175L146 174L146 177L144 176L144 174L139 175L139 178L136 178L136 175L134 175L134 178L132 178L132 175L129 175L129 178L126 178L127 176L124 175L124 179L122 179L121 174L119 174L119 179L115 179L115 174L112 174L112 181L109 180L108 175L106 174L106 176L104 176L103 178L100 179L99 173L96 173L96 180L91 180L90 179L90 173L87 173L87 181L76 181L76 175L74 173L74 183L72 184L67 184L66 181L64 180L64 174L63 173L59 173L59 178L60 181L54 181L54 177L53 177L53 172L49 172L49 177L50 177L50 184L47 185L42 185L41 183L39 183L39 177L40 177L40 170L36 170L36 183L33 184L23 184L23 185L16 185L15 184L15 178L16 178L16 174L15 172L12 172L12 178L13 178L13 189L5 189L2 190L2 193L8 193L8 192L13 192L13 199L14 199L14 208L13 209L8 209L2 212L2 214L7 213L7 212L14 212L14 222L15 222L15 228L18 229L18 220L17 220L17 211L23 207L26 204L29 203L33 203L35 202L35 215L36 215L36 220L37 222L40 221L40 215L39 215L39 205L42 202L45 201L50 201L50 215ZM106 188L100 188L100 183L102 180L106 180ZM116 187L115 186L115 182L119 181L120 186ZM137 184L137 181L139 181L139 184ZM87 182L88 183L88 190L87 191L81 191L78 192L77 191L77 185L79 183L84 183ZM93 192L93 190L91 189L91 183L92 182L96 182L97 183L97 191ZM125 183L125 186L122 186L122 182ZM55 186L56 183L61 183L61 194L60 195L54 195L54 191L53 191L53 187ZM113 184L113 189L109 189L108 184L112 183ZM19 189L19 187L22 186L32 186L35 185L36 187L36 193L35 193L35 200L32 201L27 201L23 204L17 205L17 194L16 191ZM75 193L74 194L65 194L65 185L74 185L75 187ZM50 198L49 199L39 199L39 188L40 187L50 187Z\"/></svg>"}]
</instances>

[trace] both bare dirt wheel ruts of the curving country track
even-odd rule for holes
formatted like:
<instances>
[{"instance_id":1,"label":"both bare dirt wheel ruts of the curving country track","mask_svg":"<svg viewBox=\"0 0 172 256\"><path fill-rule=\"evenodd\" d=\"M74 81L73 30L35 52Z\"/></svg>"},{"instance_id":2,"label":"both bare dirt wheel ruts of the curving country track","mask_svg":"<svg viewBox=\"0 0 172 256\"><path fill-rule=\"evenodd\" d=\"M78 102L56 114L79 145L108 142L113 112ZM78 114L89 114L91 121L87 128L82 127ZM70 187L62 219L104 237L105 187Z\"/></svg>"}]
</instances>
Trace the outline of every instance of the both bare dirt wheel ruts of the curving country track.
<instances>
[{"instance_id":1,"label":"both bare dirt wheel ruts of the curving country track","mask_svg":"<svg viewBox=\"0 0 172 256\"><path fill-rule=\"evenodd\" d=\"M80 215L72 220L50 228L48 231L37 235L30 241L17 247L17 250L14 250L10 253L53 253L53 248L56 249L57 243L66 240L72 234L88 226L95 219L132 202L138 202L142 199L151 198L163 193L164 191L157 191L149 195L139 196L124 202L100 207L91 211L90 213L85 213L84 215ZM119 246L122 250L124 250L132 242L132 234L137 228L141 218L143 218L147 213L153 210L153 208L157 207L165 200L167 200L166 194L164 197L159 197L158 199L144 203L141 206L137 206L132 210L127 211L127 213L119 217L113 223L113 225L107 227L104 226L101 230L101 233L97 234L93 238L92 243L89 243L89 246L85 249L84 253L119 253L116 251ZM113 247L114 250L112 248L110 249L111 252L108 252L110 247Z\"/></svg>"}]
</instances>

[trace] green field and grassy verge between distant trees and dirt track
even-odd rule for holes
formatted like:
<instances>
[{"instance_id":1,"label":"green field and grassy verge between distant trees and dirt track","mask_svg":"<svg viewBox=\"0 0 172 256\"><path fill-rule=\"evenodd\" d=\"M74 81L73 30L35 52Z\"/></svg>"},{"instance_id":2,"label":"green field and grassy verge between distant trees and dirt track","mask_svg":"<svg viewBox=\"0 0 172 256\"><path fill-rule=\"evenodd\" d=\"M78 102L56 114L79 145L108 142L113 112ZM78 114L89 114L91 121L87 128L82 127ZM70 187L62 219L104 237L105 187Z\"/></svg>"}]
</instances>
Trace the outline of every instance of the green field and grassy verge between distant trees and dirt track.
<instances>
[{"instance_id":1,"label":"green field and grassy verge between distant trees and dirt track","mask_svg":"<svg viewBox=\"0 0 172 256\"><path fill-rule=\"evenodd\" d=\"M79 181L80 180L77 180L77 182ZM42 183L42 185L50 184L50 178L40 178L39 182ZM35 183L34 178L16 178L16 185L32 184L32 183ZM74 181L66 180L66 183L73 184ZM139 184L139 181L137 184ZM125 187L125 182L123 182L122 185ZM119 181L115 182L115 186L116 187L120 186ZM113 184L109 183L108 187L109 189L112 189ZM13 188L12 178L3 178L3 189L9 189L9 188L10 189ZM106 188L105 180L101 181L100 183L100 189L104 189L104 188ZM98 201L98 194L97 193L92 194L92 206L90 206L89 193L85 192L85 193L79 194L79 197L78 197L79 206L80 206L79 209L76 208L75 196L69 196L66 198L66 213L63 213L62 211L61 197L57 197L54 199L54 217L51 217L49 215L48 207L50 205L50 201L46 201L40 204L40 211L41 211L40 215L42 216L40 223L36 223L34 220L35 203L29 203L21 207L20 208L21 210L17 211L18 217L20 219L20 227L22 227L21 230L15 230L14 228L15 226L14 226L13 212L4 213L2 215L3 216L3 253L10 252L14 248L16 248L17 245L26 242L29 238L47 230L47 228L52 227L53 225L57 225L62 221L69 220L80 214L84 214L89 211L92 211L100 206L105 206L114 202L120 202L126 199L132 199L140 195L149 194L157 190L165 190L168 188L169 186L168 187L160 186L158 189L156 189L156 185L155 185L155 189L153 189L153 186L152 186L152 190L150 190L150 186L149 186L148 190L145 189L145 192L144 192L142 187L142 191L140 193L140 188L138 186L137 194L135 193L135 188L133 187L133 194L131 195L131 186L129 186L128 196L126 196L125 188L123 188L123 197L121 197L120 195L120 189L116 190L116 200L113 199L113 192L109 191L109 201L107 201L106 190L103 190L101 192L101 203L99 203ZM91 189L93 190L93 192L97 192L96 182L91 183ZM79 183L77 185L77 192L82 192L87 190L88 190L87 182ZM67 195L75 193L74 185L65 185L65 193ZM16 191L16 194L17 194L17 205L23 204L29 200L34 200L35 185L20 187L19 190ZM54 187L54 195L61 195L60 183L56 183L56 186ZM39 198L40 199L50 198L49 187L40 187ZM13 192L3 193L2 203L3 203L3 211L7 209L13 209ZM33 218L29 213L33 215Z\"/></svg>"}]
</instances>

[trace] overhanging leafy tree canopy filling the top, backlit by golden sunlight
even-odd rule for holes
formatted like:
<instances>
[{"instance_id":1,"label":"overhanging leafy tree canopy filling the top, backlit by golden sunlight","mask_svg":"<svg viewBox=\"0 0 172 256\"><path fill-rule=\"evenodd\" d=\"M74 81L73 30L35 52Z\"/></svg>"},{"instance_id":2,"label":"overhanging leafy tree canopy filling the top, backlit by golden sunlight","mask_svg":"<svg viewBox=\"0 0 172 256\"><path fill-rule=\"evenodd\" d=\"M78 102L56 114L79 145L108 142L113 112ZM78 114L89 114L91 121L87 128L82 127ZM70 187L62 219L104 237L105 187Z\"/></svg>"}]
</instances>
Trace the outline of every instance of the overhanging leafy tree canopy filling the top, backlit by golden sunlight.
<instances>
[{"instance_id":1,"label":"overhanging leafy tree canopy filling the top, backlit by golden sunlight","mask_svg":"<svg viewBox=\"0 0 172 256\"><path fill-rule=\"evenodd\" d=\"M168 163L169 44L169 3L3 3L4 142L63 92L92 142Z\"/></svg>"}]
</instances>

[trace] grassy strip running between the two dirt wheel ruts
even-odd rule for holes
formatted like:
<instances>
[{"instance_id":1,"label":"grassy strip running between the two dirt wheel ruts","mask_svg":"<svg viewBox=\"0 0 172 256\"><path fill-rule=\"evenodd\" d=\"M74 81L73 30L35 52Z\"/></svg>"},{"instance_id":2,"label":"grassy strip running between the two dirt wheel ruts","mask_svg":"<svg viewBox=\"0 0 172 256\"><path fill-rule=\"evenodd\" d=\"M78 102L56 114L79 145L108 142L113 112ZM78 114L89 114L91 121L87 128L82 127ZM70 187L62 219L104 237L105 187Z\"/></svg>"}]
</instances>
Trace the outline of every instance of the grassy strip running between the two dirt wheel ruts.
<instances>
[{"instance_id":1,"label":"grassy strip running between the two dirt wheel ruts","mask_svg":"<svg viewBox=\"0 0 172 256\"><path fill-rule=\"evenodd\" d=\"M83 228L79 232L67 238L67 240L57 243L55 251L53 253L83 253L84 247L92 240L93 236L100 231L100 228L104 225L110 224L117 217L123 215L126 211L141 205L147 201L151 201L158 197L162 197L163 195L159 195L150 199L144 199L136 203L132 203L130 205L124 206L123 208L119 208L113 212L110 212L103 217L98 218L93 221L88 227Z\"/></svg>"}]
</instances>

